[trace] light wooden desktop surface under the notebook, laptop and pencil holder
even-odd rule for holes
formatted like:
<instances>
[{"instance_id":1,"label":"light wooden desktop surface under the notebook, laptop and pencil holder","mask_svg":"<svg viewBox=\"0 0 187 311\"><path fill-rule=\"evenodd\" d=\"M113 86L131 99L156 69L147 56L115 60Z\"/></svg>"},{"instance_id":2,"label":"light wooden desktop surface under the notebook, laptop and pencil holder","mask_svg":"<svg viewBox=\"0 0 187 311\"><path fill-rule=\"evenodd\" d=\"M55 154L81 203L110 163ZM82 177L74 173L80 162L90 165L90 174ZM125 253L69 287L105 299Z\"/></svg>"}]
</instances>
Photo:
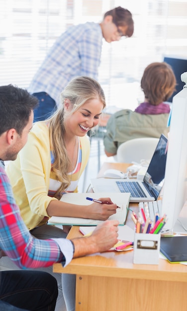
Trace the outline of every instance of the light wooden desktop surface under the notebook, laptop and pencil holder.
<instances>
[{"instance_id":1,"label":"light wooden desktop surface under the notebook, laptop and pencil holder","mask_svg":"<svg viewBox=\"0 0 187 311\"><path fill-rule=\"evenodd\" d=\"M98 177L102 177L103 172L108 168L125 172L128 166L129 164L124 163L104 163ZM129 207L137 212L137 204L130 203ZM129 213L126 224L131 228L134 226ZM79 236L82 236L79 227L73 227L68 234L70 239ZM133 264L133 250L125 252L108 251L75 258L65 268L60 263L54 264L53 271L102 277L187 282L187 266L171 264L164 259L159 260L159 265Z\"/></svg>"}]
</instances>

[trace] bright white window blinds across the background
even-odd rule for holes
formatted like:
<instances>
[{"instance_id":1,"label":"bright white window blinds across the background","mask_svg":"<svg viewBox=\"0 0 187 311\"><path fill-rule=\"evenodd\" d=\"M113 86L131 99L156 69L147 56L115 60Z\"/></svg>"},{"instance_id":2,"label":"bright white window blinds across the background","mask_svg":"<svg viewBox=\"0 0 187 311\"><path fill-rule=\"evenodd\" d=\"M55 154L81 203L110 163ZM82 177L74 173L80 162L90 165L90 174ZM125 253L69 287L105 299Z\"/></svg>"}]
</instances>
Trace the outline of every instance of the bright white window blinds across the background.
<instances>
[{"instance_id":1,"label":"bright white window blinds across the background","mask_svg":"<svg viewBox=\"0 0 187 311\"><path fill-rule=\"evenodd\" d=\"M132 12L135 31L132 38L103 42L99 82L108 105L133 109L149 63L166 54L187 57L186 0L0 0L0 85L27 87L69 25L99 22L118 5Z\"/></svg>"}]
</instances>

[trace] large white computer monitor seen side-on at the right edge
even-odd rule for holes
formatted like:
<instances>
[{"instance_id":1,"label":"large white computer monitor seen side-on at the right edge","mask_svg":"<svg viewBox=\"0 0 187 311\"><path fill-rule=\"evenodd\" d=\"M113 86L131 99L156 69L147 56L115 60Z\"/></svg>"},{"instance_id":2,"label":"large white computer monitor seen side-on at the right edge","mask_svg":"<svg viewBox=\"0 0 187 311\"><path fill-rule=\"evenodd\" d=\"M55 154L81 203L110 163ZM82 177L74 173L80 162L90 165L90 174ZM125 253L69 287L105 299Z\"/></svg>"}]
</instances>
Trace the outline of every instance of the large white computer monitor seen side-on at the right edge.
<instances>
[{"instance_id":1,"label":"large white computer monitor seen side-on at the right edge","mask_svg":"<svg viewBox=\"0 0 187 311\"><path fill-rule=\"evenodd\" d=\"M187 87L173 98L166 172L163 189L162 214L167 215L165 229L185 229L178 220L187 200ZM187 228L187 218L184 219Z\"/></svg>"}]
</instances>

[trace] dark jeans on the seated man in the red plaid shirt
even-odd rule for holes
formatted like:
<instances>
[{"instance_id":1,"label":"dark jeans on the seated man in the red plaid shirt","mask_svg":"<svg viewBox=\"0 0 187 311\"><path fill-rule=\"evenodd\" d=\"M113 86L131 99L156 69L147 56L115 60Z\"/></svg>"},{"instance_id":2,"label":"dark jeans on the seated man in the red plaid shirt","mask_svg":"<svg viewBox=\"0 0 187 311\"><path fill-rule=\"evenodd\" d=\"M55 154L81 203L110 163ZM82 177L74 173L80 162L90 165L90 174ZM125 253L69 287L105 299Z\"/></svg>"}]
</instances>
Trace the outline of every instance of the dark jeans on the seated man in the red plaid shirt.
<instances>
[{"instance_id":1,"label":"dark jeans on the seated man in the red plaid shirt","mask_svg":"<svg viewBox=\"0 0 187 311\"><path fill-rule=\"evenodd\" d=\"M57 281L49 273L23 270L0 272L1 311L54 311L57 296Z\"/></svg>"}]
</instances>

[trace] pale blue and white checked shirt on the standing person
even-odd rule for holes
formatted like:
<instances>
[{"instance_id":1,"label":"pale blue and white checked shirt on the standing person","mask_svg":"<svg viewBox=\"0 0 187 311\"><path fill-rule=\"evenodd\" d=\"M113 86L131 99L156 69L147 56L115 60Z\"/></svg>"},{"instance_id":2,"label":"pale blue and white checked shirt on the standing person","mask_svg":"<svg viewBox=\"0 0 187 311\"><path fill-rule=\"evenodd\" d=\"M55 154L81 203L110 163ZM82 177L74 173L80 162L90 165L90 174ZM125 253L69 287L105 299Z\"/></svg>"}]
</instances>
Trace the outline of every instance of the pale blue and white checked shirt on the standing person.
<instances>
[{"instance_id":1,"label":"pale blue and white checked shirt on the standing person","mask_svg":"<svg viewBox=\"0 0 187 311\"><path fill-rule=\"evenodd\" d=\"M77 76L97 79L102 48L100 25L87 22L69 27L54 43L28 88L46 92L59 105L67 83Z\"/></svg>"}]
</instances>

